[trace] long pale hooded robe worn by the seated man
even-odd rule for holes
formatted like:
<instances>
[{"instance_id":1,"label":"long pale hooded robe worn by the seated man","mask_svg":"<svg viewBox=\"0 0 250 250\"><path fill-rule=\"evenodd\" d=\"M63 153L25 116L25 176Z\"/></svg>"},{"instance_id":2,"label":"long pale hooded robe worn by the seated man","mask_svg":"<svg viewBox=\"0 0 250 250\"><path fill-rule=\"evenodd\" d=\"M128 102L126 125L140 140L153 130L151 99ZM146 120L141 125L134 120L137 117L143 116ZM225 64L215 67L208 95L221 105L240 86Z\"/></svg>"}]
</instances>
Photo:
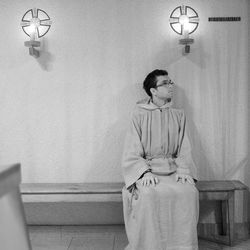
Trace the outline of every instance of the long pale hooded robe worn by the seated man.
<instances>
[{"instance_id":1,"label":"long pale hooded robe worn by the seated man","mask_svg":"<svg viewBox=\"0 0 250 250\"><path fill-rule=\"evenodd\" d=\"M151 170L155 187L141 185ZM198 191L175 181L179 174L197 179L183 110L150 99L137 103L127 133L122 170L123 211L129 244L126 250L196 250Z\"/></svg>"}]
</instances>

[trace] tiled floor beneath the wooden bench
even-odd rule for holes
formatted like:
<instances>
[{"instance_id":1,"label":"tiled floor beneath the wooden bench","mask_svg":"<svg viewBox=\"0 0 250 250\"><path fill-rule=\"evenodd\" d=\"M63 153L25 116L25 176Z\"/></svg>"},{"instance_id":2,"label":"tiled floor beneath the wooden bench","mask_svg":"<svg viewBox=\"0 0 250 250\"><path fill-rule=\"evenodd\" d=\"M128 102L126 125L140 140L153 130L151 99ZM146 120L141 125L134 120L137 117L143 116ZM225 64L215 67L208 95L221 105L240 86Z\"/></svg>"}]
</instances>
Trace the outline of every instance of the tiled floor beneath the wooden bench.
<instances>
[{"instance_id":1,"label":"tiled floor beneath the wooden bench","mask_svg":"<svg viewBox=\"0 0 250 250\"><path fill-rule=\"evenodd\" d=\"M124 250L124 226L30 226L32 250ZM153 249L152 249L153 250ZM250 239L234 247L199 240L199 250L250 250Z\"/></svg>"}]
</instances>

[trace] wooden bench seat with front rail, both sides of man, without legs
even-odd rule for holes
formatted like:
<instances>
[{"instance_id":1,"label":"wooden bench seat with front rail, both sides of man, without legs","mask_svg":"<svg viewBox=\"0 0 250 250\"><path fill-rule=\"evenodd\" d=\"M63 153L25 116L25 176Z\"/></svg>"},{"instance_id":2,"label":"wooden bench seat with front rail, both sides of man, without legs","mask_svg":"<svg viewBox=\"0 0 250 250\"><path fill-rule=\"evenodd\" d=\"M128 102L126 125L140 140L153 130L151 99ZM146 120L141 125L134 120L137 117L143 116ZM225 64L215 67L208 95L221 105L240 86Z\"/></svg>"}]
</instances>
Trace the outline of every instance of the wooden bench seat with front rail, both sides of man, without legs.
<instances>
[{"instance_id":1,"label":"wooden bench seat with front rail, both sides of man, without legs","mask_svg":"<svg viewBox=\"0 0 250 250\"><path fill-rule=\"evenodd\" d=\"M23 202L121 202L124 183L22 183ZM198 181L200 200L225 200L230 191L246 190L237 180ZM224 196L224 198L223 198Z\"/></svg>"}]
</instances>

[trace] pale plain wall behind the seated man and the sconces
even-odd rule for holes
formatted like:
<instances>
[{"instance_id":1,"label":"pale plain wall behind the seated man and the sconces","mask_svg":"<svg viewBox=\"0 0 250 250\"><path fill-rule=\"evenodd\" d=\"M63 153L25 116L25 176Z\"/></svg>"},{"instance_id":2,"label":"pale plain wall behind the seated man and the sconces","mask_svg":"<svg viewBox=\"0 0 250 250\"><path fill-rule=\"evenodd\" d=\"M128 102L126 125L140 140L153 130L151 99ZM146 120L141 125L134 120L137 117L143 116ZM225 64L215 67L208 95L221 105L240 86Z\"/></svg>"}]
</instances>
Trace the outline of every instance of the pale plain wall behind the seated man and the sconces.
<instances>
[{"instance_id":1,"label":"pale plain wall behind the seated man and the sconces","mask_svg":"<svg viewBox=\"0 0 250 250\"><path fill-rule=\"evenodd\" d=\"M188 56L182 55L179 37L169 26L169 15L178 4L192 6L200 16ZM213 158L223 154L214 149L220 137L211 142L208 133L216 119L211 116L214 105L208 86L220 88L234 74L243 84L235 98L248 88L246 6L247 0L2 0L0 164L21 162L23 182L121 181L130 111L145 97L141 84L146 74L164 68L177 83L176 105L184 106L190 117L201 178L216 177L208 170L215 170L211 162L220 166L217 177L223 177L228 162ZM28 37L20 26L23 14L33 7L45 10L53 22L41 40L38 59L24 47ZM210 16L242 16L242 21L212 24L207 21ZM241 54L230 54L237 46ZM224 52L230 60L240 57L234 72L226 66L218 70L216 60L228 59ZM246 95L239 105L247 114ZM213 118L211 124L206 114ZM245 145L247 124L244 119L240 124ZM243 159L243 168L226 177L250 185L244 175L244 145L242 154L232 156L237 164Z\"/></svg>"}]
</instances>

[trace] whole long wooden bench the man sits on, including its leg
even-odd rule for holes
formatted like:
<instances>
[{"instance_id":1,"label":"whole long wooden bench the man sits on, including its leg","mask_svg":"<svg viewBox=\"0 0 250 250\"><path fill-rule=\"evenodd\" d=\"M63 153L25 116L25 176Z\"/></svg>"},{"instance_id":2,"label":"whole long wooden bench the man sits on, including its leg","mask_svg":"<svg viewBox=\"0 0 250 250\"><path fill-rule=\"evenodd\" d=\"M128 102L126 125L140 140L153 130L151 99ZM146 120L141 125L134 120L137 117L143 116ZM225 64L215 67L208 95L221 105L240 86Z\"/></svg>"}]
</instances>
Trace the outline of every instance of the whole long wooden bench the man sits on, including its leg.
<instances>
[{"instance_id":1,"label":"whole long wooden bench the man sits on, including its leg","mask_svg":"<svg viewBox=\"0 0 250 250\"><path fill-rule=\"evenodd\" d=\"M26 183L21 185L24 203L121 202L123 183ZM235 191L246 190L240 181L199 181L200 200L221 201L223 233L207 237L215 242L234 244Z\"/></svg>"}]
</instances>

